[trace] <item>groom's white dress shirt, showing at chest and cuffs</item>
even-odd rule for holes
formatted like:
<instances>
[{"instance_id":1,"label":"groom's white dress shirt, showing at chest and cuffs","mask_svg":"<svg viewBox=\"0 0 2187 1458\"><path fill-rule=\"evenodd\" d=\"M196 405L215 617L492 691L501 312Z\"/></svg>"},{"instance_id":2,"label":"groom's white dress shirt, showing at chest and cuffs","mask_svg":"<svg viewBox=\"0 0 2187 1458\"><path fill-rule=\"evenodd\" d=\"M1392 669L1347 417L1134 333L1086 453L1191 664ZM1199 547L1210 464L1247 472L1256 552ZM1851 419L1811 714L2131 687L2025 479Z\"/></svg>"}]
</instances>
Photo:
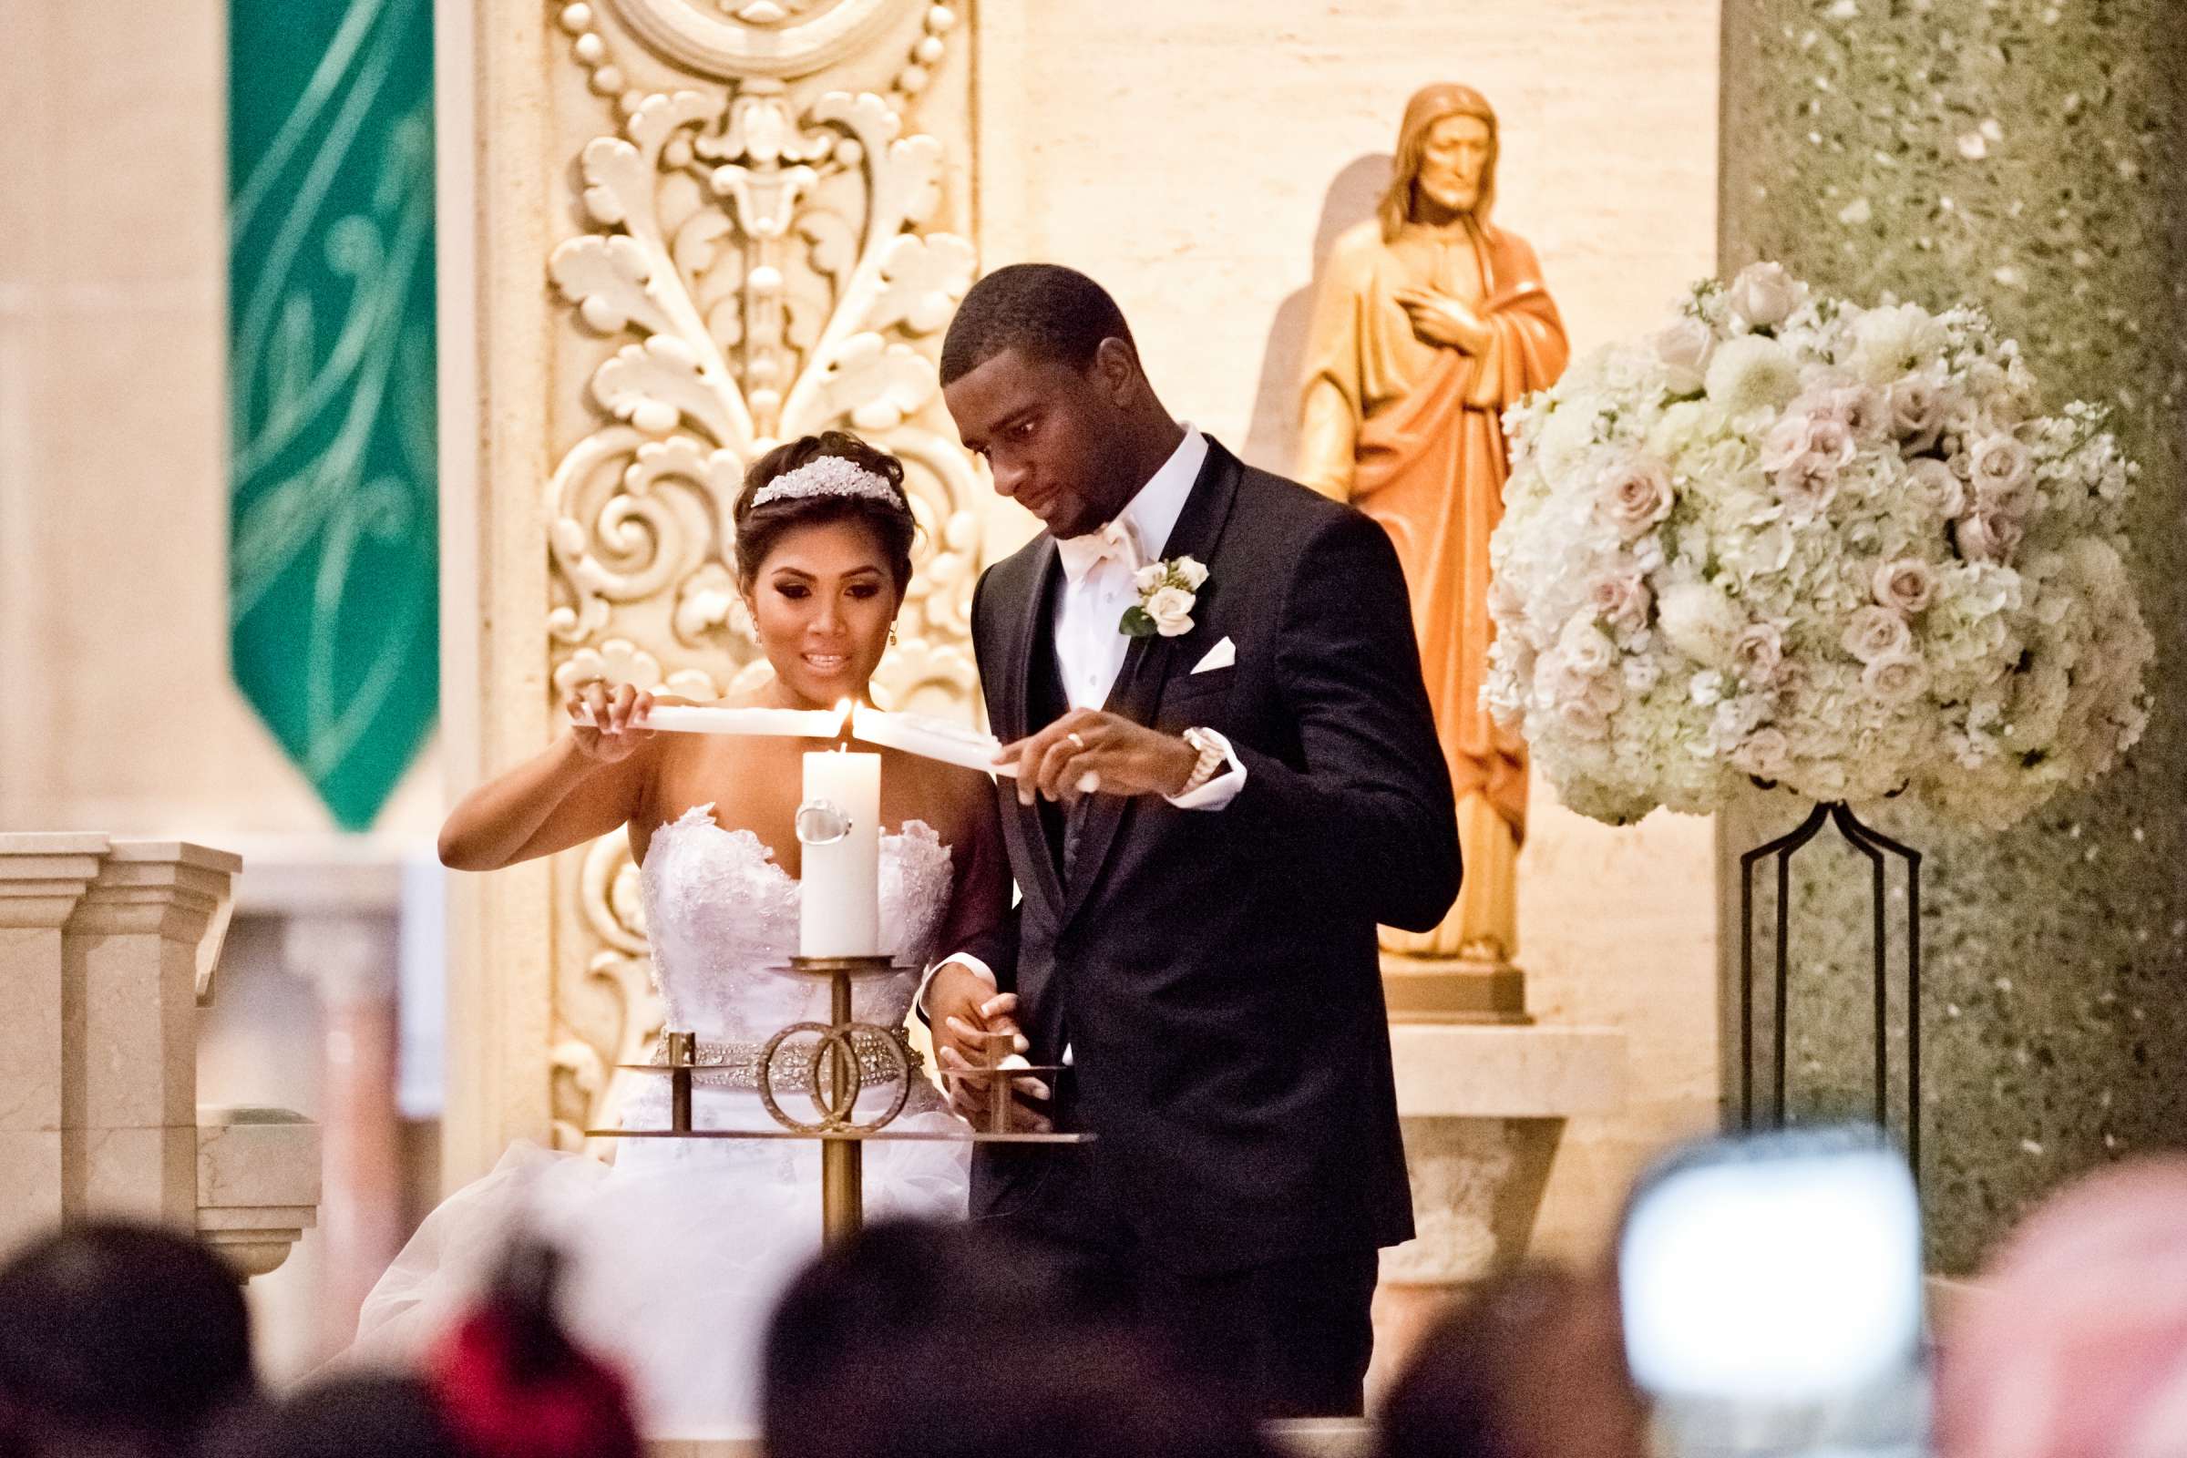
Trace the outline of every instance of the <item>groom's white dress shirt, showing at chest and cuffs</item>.
<instances>
[{"instance_id":1,"label":"groom's white dress shirt, showing at chest and cuffs","mask_svg":"<svg viewBox=\"0 0 2187 1458\"><path fill-rule=\"evenodd\" d=\"M1144 564L1163 557L1170 531L1177 529L1177 518L1183 516L1185 498L1192 496L1192 483L1205 463L1207 437L1188 424L1185 439L1113 522L1083 538L1056 542L1056 557L1063 562L1063 590L1056 592L1054 616L1056 667L1063 673L1063 697L1072 708L1100 708L1109 702L1109 691L1131 651L1124 612L1139 601L1133 577ZM1198 789L1168 796L1181 811L1218 811L1244 789L1244 765L1238 763L1229 741L1214 730L1203 732L1223 745L1227 767ZM969 953L943 957L919 984L921 1010L927 1006L927 984L947 962L960 962L991 984L995 979L993 968L980 957ZM1065 1049L1063 1062L1069 1060Z\"/></svg>"}]
</instances>

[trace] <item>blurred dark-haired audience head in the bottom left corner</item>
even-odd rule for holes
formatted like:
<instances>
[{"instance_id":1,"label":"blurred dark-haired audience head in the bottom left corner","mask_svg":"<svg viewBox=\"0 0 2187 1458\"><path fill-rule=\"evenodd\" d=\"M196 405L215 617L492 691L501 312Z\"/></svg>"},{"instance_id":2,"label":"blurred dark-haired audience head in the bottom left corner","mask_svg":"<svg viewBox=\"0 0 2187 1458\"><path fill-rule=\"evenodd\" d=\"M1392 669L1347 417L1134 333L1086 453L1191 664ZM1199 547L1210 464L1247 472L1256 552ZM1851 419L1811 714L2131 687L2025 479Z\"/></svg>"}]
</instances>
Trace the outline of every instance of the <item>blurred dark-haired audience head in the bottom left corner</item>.
<instances>
[{"instance_id":1,"label":"blurred dark-haired audience head in the bottom left corner","mask_svg":"<svg viewBox=\"0 0 2187 1458\"><path fill-rule=\"evenodd\" d=\"M0 1266L0 1451L179 1454L254 1392L241 1281L188 1235L79 1224Z\"/></svg>"}]
</instances>

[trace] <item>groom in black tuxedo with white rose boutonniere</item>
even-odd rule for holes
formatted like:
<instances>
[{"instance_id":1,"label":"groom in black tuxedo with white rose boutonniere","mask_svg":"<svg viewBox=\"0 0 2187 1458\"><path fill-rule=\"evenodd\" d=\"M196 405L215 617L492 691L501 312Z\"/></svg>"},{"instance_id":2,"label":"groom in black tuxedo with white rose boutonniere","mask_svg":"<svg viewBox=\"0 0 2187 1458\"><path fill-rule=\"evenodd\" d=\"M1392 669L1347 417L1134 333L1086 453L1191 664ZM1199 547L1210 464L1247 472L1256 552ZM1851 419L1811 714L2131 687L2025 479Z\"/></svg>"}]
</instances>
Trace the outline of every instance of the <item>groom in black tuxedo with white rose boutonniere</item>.
<instances>
[{"instance_id":1,"label":"groom in black tuxedo with white rose boutonniere","mask_svg":"<svg viewBox=\"0 0 2187 1458\"><path fill-rule=\"evenodd\" d=\"M1435 927L1459 887L1389 536L1172 420L1072 269L980 280L943 393L1045 531L973 595L1021 903L923 1008L951 1067L1021 1030L1067 1065L1028 1121L1094 1134L982 1148L973 1215L1264 1412L1354 1414L1376 1250L1413 1233L1376 925Z\"/></svg>"}]
</instances>

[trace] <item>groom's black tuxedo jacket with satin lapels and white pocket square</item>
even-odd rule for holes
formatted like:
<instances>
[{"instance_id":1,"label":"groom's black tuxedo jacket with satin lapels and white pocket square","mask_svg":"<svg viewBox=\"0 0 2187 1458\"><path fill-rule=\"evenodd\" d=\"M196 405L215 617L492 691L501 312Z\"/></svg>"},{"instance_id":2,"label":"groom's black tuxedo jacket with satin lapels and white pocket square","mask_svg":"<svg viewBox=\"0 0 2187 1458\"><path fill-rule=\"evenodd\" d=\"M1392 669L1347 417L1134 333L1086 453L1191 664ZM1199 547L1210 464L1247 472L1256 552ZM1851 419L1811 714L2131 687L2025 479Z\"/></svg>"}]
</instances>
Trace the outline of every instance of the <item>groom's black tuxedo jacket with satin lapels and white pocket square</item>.
<instances>
[{"instance_id":1,"label":"groom's black tuxedo jacket with satin lapels and white pocket square","mask_svg":"<svg viewBox=\"0 0 2187 1458\"><path fill-rule=\"evenodd\" d=\"M1192 630L1135 640L1107 708L1227 734L1247 783L1220 811L1094 796L1069 824L1002 783L1021 903L969 951L1034 1062L1072 1049L1059 1126L1096 1143L984 1148L973 1213L1174 1270L1389 1246L1413 1204L1376 922L1428 929L1459 885L1404 575L1376 522L1214 442L1161 544L1185 553ZM1043 533L973 597L1004 741L1065 710L1061 579ZM1194 673L1223 638L1236 665Z\"/></svg>"}]
</instances>

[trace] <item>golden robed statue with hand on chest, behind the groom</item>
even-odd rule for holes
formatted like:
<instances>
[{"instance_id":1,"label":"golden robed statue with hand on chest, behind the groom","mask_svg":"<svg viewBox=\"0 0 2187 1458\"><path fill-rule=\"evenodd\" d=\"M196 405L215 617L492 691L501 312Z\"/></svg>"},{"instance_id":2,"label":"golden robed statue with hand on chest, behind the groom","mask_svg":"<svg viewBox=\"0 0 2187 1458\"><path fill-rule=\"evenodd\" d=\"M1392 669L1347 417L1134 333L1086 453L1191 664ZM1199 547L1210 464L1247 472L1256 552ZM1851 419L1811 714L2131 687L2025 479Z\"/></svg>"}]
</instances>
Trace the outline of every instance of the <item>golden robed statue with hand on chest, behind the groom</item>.
<instances>
[{"instance_id":1,"label":"golden robed statue with hand on chest, behind the groom","mask_svg":"<svg viewBox=\"0 0 2187 1458\"><path fill-rule=\"evenodd\" d=\"M1489 533L1511 466L1502 411L1553 385L1568 356L1542 267L1489 223L1494 203L1496 111L1465 85L1422 90L1404 107L1378 216L1330 256L1299 422L1299 479L1352 501L1397 546L1459 793L1459 901L1435 931L1384 927L1382 949L1476 968L1511 968L1518 953L1527 835L1527 745L1481 708Z\"/></svg>"}]
</instances>

